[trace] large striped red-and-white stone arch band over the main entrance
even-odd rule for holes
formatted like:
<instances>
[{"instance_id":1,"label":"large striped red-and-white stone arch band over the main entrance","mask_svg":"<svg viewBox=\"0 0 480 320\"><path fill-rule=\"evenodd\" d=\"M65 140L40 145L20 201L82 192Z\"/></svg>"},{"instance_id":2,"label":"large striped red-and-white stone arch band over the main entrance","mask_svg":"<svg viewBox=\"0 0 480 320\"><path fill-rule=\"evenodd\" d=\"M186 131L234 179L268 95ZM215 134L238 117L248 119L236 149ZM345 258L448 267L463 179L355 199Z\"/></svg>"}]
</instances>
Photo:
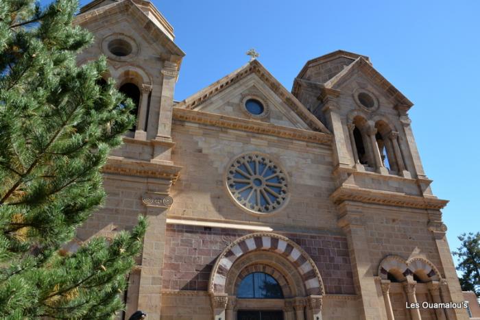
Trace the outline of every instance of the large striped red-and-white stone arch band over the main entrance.
<instances>
[{"instance_id":1,"label":"large striped red-and-white stone arch band over the main entrance","mask_svg":"<svg viewBox=\"0 0 480 320\"><path fill-rule=\"evenodd\" d=\"M269 233L248 234L228 245L215 262L208 290L213 294L224 293L228 271L235 261L241 256L256 250L272 251L286 258L300 273L305 291L309 295L324 294L320 272L307 252L289 238Z\"/></svg>"}]
</instances>

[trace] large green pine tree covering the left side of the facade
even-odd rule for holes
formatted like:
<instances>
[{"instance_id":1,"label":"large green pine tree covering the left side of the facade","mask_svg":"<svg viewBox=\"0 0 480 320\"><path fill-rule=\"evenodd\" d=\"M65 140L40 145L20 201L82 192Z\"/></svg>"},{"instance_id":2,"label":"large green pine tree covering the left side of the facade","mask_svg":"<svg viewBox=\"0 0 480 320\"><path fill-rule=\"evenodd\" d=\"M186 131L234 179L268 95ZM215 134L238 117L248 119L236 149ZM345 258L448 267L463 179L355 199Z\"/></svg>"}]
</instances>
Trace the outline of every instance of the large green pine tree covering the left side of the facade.
<instances>
[{"instance_id":1,"label":"large green pine tree covering the left side of the facade","mask_svg":"<svg viewBox=\"0 0 480 320\"><path fill-rule=\"evenodd\" d=\"M101 167L133 125L131 101L77 66L93 36L72 25L75 0L47 8L0 1L0 317L110 319L145 220L73 253L60 250L106 197Z\"/></svg>"}]
</instances>

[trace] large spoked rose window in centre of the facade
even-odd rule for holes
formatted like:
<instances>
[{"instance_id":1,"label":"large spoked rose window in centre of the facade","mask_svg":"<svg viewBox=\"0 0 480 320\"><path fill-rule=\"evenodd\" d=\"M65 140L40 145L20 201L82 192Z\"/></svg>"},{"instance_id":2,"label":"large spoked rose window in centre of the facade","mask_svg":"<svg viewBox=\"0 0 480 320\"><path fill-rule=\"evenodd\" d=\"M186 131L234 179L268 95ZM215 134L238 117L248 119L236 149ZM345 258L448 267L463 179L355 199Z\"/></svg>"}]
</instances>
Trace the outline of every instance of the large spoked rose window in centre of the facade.
<instances>
[{"instance_id":1,"label":"large spoked rose window in centre of the facade","mask_svg":"<svg viewBox=\"0 0 480 320\"><path fill-rule=\"evenodd\" d=\"M228 167L226 184L235 202L256 214L274 212L286 203L287 176L260 154L239 156Z\"/></svg>"}]
</instances>

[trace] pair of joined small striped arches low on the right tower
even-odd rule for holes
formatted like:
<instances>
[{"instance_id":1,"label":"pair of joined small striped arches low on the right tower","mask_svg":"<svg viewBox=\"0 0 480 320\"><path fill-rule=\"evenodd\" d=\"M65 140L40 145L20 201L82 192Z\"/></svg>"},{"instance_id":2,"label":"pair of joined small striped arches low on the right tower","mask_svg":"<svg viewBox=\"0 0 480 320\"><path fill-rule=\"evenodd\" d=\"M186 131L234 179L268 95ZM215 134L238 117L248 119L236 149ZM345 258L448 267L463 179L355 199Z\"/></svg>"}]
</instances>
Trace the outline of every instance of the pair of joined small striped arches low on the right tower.
<instances>
[{"instance_id":1,"label":"pair of joined small striped arches low on the right tower","mask_svg":"<svg viewBox=\"0 0 480 320\"><path fill-rule=\"evenodd\" d=\"M389 280L388 273L392 270L396 271L396 275L401 277L400 281L407 280L407 276L413 277L413 274L422 271L424 279L422 282L440 281L442 277L435 265L429 260L422 257L413 257L404 260L400 256L386 256L379 264L379 278L381 280ZM400 275L401 273L401 275Z\"/></svg>"}]
</instances>

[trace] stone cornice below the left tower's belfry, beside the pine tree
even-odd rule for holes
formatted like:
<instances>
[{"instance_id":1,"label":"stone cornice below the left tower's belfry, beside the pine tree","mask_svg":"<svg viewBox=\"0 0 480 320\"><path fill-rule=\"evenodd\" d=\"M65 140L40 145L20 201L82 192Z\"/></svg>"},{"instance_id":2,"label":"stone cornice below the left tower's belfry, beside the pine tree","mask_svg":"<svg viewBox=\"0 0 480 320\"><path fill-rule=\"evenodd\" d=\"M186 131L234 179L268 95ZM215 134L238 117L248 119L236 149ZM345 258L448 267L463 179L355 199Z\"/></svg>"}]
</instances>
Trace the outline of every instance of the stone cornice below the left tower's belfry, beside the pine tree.
<instances>
[{"instance_id":1,"label":"stone cornice below the left tower's belfry, beside the pine tree","mask_svg":"<svg viewBox=\"0 0 480 320\"><path fill-rule=\"evenodd\" d=\"M102 172L171 180L175 183L182 167L109 156Z\"/></svg>"}]
</instances>

